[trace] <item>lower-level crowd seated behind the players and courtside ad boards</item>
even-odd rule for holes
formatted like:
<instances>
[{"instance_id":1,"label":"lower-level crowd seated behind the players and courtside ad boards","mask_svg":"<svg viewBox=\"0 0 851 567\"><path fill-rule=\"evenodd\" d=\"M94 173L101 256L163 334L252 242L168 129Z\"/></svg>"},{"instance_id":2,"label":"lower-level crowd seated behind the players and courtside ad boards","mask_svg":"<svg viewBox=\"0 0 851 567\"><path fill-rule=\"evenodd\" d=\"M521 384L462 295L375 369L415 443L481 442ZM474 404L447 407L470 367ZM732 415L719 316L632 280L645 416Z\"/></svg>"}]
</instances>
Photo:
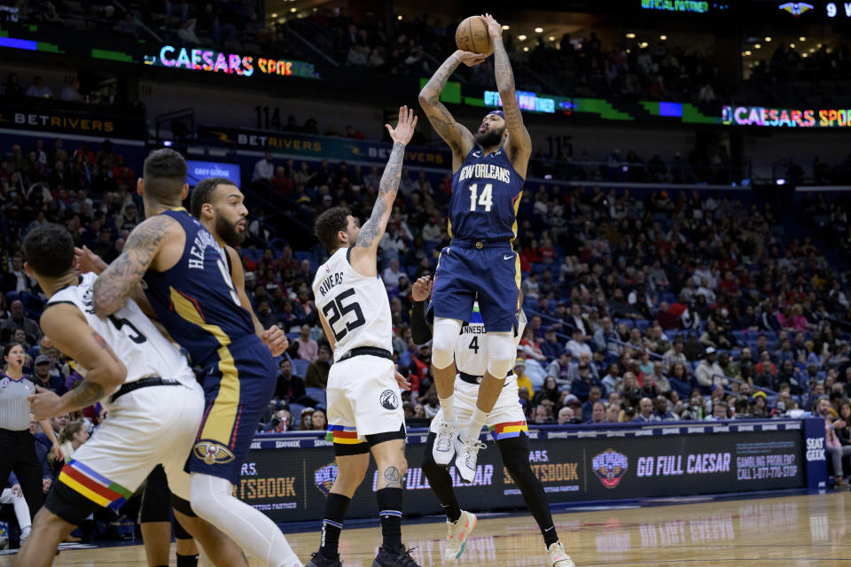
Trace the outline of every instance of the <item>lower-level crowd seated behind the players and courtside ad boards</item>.
<instances>
[{"instance_id":1,"label":"lower-level crowd seated behind the players and courtside ad boards","mask_svg":"<svg viewBox=\"0 0 851 567\"><path fill-rule=\"evenodd\" d=\"M336 204L365 218L379 185L379 167L267 165L261 171L275 175L254 186L275 187L287 214L306 226ZM80 377L39 329L43 295L23 269L21 239L37 224L57 221L78 245L113 260L144 217L130 190L136 177L108 141L92 148L36 140L4 148L0 157L0 340L24 345L33 379L57 392ZM437 253L449 244L449 194L449 176L406 170L379 247L394 357L412 384L403 395L411 424L425 425L439 408L430 348L410 338L410 290L416 278L433 274ZM515 372L529 423L820 411L836 420L828 434L847 444L851 302L840 268L847 202L820 195L800 204L801 222L821 223L830 237L820 250L803 224L789 221L790 211L746 198L527 187L515 246L528 325ZM258 431L324 431L332 357L310 286L326 252L319 245L293 250L269 237L270 222L254 211L240 250L258 317L264 326L283 326L291 340ZM89 430L99 411L82 413Z\"/></svg>"}]
</instances>

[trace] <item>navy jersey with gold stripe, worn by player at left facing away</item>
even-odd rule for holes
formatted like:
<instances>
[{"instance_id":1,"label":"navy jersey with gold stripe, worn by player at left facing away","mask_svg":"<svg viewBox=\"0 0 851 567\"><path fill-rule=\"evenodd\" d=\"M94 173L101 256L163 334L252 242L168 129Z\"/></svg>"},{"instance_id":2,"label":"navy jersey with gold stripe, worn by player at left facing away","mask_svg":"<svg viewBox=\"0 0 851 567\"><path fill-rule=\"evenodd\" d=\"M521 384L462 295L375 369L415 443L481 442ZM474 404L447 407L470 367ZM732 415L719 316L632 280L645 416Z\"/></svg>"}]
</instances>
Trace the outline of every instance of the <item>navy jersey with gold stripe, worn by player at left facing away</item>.
<instances>
[{"instance_id":1,"label":"navy jersey with gold stripe, worn by player at left facing away","mask_svg":"<svg viewBox=\"0 0 851 567\"><path fill-rule=\"evenodd\" d=\"M186 233L183 256L165 272L149 270L145 295L168 333L193 365L218 361L217 351L254 336L251 315L239 304L223 248L183 208L166 211Z\"/></svg>"}]
</instances>

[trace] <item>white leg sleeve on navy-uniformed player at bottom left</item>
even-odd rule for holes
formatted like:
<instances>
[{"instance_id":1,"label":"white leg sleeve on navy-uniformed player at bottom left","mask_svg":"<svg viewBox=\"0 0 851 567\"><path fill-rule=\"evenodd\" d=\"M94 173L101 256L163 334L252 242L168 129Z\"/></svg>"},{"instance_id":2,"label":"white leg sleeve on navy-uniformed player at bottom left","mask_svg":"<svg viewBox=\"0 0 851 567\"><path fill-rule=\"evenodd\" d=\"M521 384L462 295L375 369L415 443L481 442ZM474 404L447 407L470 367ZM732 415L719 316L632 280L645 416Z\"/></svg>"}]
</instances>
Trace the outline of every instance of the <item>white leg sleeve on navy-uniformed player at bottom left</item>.
<instances>
[{"instance_id":1,"label":"white leg sleeve on navy-uniformed player at bottom left","mask_svg":"<svg viewBox=\"0 0 851 567\"><path fill-rule=\"evenodd\" d=\"M193 472L190 489L192 510L263 565L303 567L277 525L260 510L235 498L228 480Z\"/></svg>"}]
</instances>

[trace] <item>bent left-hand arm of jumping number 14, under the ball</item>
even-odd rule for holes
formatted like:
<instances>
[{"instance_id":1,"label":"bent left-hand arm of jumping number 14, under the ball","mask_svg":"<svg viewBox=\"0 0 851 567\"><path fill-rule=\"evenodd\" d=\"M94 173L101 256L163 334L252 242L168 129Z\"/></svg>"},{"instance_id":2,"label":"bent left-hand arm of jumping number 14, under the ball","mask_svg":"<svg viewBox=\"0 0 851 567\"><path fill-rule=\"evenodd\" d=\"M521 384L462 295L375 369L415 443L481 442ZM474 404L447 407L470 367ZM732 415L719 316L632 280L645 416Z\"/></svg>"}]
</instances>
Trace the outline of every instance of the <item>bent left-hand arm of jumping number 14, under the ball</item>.
<instances>
[{"instance_id":1,"label":"bent left-hand arm of jumping number 14, under the ball","mask_svg":"<svg viewBox=\"0 0 851 567\"><path fill-rule=\"evenodd\" d=\"M449 76L455 72L457 66L461 63L473 66L484 60L485 58L480 53L457 50L443 62L443 65L433 74L419 93L419 105L426 113L428 121L452 149L453 171L461 167L461 163L476 142L470 130L459 124L449 113L446 106L441 103L441 92L446 87Z\"/></svg>"}]
</instances>

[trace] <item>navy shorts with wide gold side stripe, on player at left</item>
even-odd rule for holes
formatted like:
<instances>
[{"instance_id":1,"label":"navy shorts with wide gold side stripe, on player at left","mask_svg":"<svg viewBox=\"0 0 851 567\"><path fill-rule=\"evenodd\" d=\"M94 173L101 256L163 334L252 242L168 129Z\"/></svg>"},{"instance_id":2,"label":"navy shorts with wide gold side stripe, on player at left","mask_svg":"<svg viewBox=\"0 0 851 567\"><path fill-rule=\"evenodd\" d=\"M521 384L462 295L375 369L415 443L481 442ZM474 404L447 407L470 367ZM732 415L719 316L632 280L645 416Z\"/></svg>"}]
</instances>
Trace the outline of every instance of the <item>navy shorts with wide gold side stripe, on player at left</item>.
<instances>
[{"instance_id":1,"label":"navy shorts with wide gold side stripe, on player at left","mask_svg":"<svg viewBox=\"0 0 851 567\"><path fill-rule=\"evenodd\" d=\"M250 335L219 349L204 374L204 418L186 470L236 485L257 423L275 393L277 368L269 347Z\"/></svg>"}]
</instances>

